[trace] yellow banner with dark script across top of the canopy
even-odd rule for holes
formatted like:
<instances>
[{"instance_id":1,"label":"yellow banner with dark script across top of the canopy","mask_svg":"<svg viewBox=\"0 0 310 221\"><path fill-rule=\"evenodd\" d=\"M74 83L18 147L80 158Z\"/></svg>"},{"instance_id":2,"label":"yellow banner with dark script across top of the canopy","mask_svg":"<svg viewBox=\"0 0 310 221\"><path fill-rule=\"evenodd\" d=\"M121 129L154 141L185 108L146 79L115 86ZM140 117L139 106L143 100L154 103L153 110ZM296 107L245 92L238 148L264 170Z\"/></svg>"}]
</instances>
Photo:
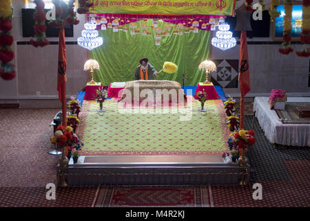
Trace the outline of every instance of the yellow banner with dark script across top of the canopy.
<instances>
[{"instance_id":1,"label":"yellow banner with dark script across top of the canopy","mask_svg":"<svg viewBox=\"0 0 310 221\"><path fill-rule=\"evenodd\" d=\"M90 0L91 13L146 15L233 15L234 0Z\"/></svg>"}]
</instances>

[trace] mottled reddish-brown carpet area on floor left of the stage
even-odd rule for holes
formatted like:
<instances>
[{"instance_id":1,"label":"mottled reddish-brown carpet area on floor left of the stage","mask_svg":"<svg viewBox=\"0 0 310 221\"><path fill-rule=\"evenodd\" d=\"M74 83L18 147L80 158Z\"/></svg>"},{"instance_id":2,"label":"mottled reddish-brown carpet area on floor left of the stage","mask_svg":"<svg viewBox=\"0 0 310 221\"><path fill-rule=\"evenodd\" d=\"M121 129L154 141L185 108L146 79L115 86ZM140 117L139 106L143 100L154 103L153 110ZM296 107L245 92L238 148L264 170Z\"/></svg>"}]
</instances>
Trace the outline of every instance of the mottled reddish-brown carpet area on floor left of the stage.
<instances>
[{"instance_id":1,"label":"mottled reddish-brown carpet area on floor left of the stage","mask_svg":"<svg viewBox=\"0 0 310 221\"><path fill-rule=\"evenodd\" d=\"M0 187L45 187L56 182L59 156L52 148L50 122L56 109L0 110Z\"/></svg>"}]
</instances>

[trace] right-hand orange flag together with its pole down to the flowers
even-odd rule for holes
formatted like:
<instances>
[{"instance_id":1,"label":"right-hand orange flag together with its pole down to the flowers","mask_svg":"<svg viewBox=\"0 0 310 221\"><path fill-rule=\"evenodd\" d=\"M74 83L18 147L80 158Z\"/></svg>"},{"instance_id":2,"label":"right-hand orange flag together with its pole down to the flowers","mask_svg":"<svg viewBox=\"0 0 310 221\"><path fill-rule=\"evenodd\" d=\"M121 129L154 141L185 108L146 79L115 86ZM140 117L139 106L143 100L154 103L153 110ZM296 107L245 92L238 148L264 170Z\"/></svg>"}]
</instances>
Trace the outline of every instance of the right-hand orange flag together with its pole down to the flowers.
<instances>
[{"instance_id":1,"label":"right-hand orange flag together with its pole down to the flowers","mask_svg":"<svg viewBox=\"0 0 310 221\"><path fill-rule=\"evenodd\" d=\"M245 110L245 95L250 90L250 79L249 79L249 56L247 54L247 32L241 32L240 38L240 68L239 78L240 82L240 128L245 128L244 123L244 110Z\"/></svg>"}]
</instances>

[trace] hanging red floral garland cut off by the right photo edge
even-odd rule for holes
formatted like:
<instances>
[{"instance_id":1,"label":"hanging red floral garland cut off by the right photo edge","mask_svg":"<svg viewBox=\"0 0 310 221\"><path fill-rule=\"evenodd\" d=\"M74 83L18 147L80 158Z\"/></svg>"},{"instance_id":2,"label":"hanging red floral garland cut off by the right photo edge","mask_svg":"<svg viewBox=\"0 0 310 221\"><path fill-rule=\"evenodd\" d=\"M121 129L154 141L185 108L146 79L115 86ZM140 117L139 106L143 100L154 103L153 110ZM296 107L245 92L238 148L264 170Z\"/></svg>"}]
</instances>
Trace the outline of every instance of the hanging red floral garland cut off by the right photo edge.
<instances>
[{"instance_id":1,"label":"hanging red floral garland cut off by the right photo edge","mask_svg":"<svg viewBox=\"0 0 310 221\"><path fill-rule=\"evenodd\" d=\"M300 35L300 42L305 46L304 50L296 51L296 55L300 57L310 56L310 0L302 2L302 34Z\"/></svg>"}]
</instances>

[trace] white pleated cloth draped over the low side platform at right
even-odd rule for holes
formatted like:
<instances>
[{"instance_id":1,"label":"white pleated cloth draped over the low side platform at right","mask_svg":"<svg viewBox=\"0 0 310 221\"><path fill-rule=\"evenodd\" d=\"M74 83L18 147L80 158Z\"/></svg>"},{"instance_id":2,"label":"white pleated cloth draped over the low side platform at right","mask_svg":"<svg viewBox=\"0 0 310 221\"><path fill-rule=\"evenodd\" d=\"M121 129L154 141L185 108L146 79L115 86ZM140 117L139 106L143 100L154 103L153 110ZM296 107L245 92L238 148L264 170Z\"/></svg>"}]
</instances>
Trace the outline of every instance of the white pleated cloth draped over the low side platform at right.
<instances>
[{"instance_id":1,"label":"white pleated cloth draped over the low side platform at right","mask_svg":"<svg viewBox=\"0 0 310 221\"><path fill-rule=\"evenodd\" d=\"M256 97L253 111L269 142L310 146L310 124L283 124L276 111L270 110L268 99L269 97ZM287 97L287 102L310 102L310 97Z\"/></svg>"}]
</instances>

